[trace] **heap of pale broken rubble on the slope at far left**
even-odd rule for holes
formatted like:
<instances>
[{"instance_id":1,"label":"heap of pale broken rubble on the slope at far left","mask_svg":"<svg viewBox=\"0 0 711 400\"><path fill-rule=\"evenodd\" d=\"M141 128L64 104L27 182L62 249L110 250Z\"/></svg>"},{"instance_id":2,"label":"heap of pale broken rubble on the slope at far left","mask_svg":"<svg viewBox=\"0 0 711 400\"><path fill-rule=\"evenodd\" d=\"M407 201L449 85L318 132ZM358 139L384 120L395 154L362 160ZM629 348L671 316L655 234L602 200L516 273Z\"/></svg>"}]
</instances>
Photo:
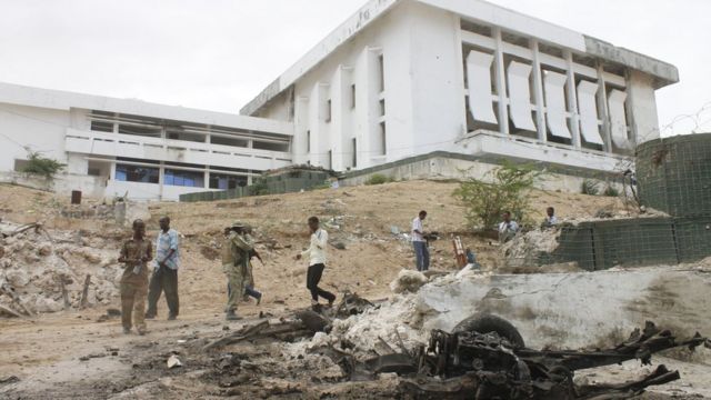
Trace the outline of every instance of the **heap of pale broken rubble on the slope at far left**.
<instances>
[{"instance_id":1,"label":"heap of pale broken rubble on the slope at far left","mask_svg":"<svg viewBox=\"0 0 711 400\"><path fill-rule=\"evenodd\" d=\"M119 247L110 232L98 237L2 222L0 249L0 306L10 311L108 304L119 293Z\"/></svg>"}]
</instances>

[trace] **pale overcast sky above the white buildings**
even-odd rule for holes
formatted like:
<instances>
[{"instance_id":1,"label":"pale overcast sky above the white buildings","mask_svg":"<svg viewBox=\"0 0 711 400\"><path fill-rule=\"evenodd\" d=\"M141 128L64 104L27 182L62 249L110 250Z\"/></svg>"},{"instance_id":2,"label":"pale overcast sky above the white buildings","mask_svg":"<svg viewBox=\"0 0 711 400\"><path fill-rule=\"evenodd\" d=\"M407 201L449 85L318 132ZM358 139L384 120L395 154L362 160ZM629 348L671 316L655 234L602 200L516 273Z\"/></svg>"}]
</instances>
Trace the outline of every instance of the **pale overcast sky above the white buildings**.
<instances>
[{"instance_id":1,"label":"pale overcast sky above the white buildings","mask_svg":"<svg viewBox=\"0 0 711 400\"><path fill-rule=\"evenodd\" d=\"M0 81L238 112L364 2L0 0ZM711 131L711 0L492 2L675 64L660 122Z\"/></svg>"}]
</instances>

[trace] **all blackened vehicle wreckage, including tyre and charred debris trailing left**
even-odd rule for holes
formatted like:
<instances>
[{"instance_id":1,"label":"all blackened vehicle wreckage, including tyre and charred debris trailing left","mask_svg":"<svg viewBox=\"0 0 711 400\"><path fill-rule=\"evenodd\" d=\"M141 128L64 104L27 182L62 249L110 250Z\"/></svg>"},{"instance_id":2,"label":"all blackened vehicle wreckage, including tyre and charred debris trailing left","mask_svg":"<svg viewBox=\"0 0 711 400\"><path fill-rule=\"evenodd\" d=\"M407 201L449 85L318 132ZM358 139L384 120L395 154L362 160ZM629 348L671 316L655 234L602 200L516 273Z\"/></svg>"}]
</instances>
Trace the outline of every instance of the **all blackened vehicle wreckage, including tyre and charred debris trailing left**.
<instances>
[{"instance_id":1,"label":"all blackened vehicle wreckage, including tyre and charred debris trailing left","mask_svg":"<svg viewBox=\"0 0 711 400\"><path fill-rule=\"evenodd\" d=\"M226 338L208 343L213 350L240 341L271 338L296 341L329 332L333 319L344 319L378 307L347 294L336 309L302 310L294 319L280 319L278 323L262 321L246 326ZM399 338L399 337L398 337ZM380 338L379 338L380 339ZM525 347L523 338L507 320L494 314L474 314L461 321L453 331L432 330L429 343L408 349L399 340L395 351L365 361L359 361L349 351L347 340L341 349L331 346L316 350L330 357L343 371L343 380L369 381L382 373L397 373L398 391L414 399L628 399L639 396L645 388L680 379L679 371L663 364L647 377L623 383L577 384L577 370L591 369L640 360L651 364L653 353L673 348L694 350L699 346L711 348L708 338L695 333L678 339L669 330L659 329L648 321L635 329L630 338L610 349L553 351Z\"/></svg>"}]
</instances>

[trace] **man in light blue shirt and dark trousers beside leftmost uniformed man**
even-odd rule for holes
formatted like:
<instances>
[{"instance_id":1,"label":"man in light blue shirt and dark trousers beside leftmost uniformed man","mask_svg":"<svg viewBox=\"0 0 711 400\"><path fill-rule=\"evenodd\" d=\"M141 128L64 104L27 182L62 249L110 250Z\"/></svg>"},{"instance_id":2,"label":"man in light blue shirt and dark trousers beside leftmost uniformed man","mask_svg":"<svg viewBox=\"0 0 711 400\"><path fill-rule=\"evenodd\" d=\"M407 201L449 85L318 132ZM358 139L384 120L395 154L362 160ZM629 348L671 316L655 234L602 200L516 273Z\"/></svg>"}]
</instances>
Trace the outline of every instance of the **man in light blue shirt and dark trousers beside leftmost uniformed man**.
<instances>
[{"instance_id":1,"label":"man in light blue shirt and dark trousers beside leftmost uniformed man","mask_svg":"<svg viewBox=\"0 0 711 400\"><path fill-rule=\"evenodd\" d=\"M170 229L169 217L163 217L158 222L160 223L160 232L158 232L156 240L156 266L148 287L146 318L156 318L158 300L160 293L164 291L169 310L168 320L174 320L178 318L180 307L178 299L178 267L180 267L178 231Z\"/></svg>"}]
</instances>

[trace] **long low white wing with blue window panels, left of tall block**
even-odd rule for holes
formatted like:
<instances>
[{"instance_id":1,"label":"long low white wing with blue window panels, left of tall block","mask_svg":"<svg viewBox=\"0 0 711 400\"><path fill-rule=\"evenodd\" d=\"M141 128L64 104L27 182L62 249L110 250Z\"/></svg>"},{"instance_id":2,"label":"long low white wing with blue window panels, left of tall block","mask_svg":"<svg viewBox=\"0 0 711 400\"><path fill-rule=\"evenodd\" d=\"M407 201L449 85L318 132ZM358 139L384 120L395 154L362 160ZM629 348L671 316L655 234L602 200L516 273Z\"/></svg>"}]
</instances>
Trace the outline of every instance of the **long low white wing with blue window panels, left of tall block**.
<instances>
[{"instance_id":1,"label":"long low white wing with blue window panels, left of tall block","mask_svg":"<svg viewBox=\"0 0 711 400\"><path fill-rule=\"evenodd\" d=\"M178 200L292 163L290 122L0 83L0 178L29 151L67 164L53 189Z\"/></svg>"}]
</instances>

